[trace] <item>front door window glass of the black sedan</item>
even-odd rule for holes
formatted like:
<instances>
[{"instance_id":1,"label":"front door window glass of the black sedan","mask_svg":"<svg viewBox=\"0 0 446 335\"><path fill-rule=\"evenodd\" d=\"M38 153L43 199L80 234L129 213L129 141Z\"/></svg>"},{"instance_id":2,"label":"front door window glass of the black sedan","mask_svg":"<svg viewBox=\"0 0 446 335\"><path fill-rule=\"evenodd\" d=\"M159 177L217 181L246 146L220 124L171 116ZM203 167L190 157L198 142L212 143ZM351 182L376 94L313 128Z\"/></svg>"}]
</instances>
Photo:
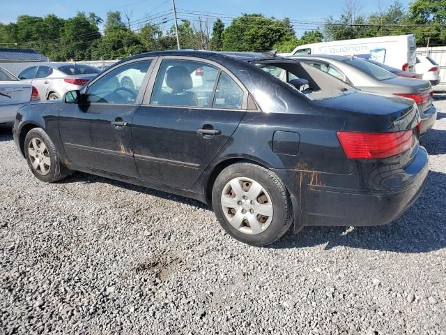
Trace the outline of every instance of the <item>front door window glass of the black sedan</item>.
<instances>
[{"instance_id":1,"label":"front door window glass of the black sedan","mask_svg":"<svg viewBox=\"0 0 446 335\"><path fill-rule=\"evenodd\" d=\"M136 103L151 60L119 66L91 84L86 95L89 103Z\"/></svg>"}]
</instances>

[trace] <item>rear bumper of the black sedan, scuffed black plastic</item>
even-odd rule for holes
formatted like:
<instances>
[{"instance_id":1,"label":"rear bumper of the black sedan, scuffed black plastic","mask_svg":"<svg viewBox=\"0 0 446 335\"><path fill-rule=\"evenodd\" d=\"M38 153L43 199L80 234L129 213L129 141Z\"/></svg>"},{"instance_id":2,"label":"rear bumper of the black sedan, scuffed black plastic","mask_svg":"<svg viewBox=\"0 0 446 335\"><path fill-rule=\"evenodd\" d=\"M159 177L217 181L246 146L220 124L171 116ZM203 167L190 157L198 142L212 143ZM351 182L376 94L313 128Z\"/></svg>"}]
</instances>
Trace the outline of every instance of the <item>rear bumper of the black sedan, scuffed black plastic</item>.
<instances>
[{"instance_id":1,"label":"rear bumper of the black sedan, scuffed black plastic","mask_svg":"<svg viewBox=\"0 0 446 335\"><path fill-rule=\"evenodd\" d=\"M368 226L384 225L401 216L422 191L424 179L429 172L428 154L426 149L420 147L413 161L399 174L401 180L406 180L400 187L389 191L365 191L342 188L346 175L330 174L332 181L338 180L337 187L324 186L317 182L303 185L302 189L290 191L295 188L295 180L291 183L284 181L291 193L291 197L300 198L299 209L302 220L295 223L295 232L305 225L332 225L332 226ZM295 173L295 172L294 172ZM282 174L282 176L284 176ZM288 180L292 180L288 174ZM320 175L321 177L321 175ZM353 176L351 176L353 177ZM321 179L319 179L321 180Z\"/></svg>"}]
</instances>

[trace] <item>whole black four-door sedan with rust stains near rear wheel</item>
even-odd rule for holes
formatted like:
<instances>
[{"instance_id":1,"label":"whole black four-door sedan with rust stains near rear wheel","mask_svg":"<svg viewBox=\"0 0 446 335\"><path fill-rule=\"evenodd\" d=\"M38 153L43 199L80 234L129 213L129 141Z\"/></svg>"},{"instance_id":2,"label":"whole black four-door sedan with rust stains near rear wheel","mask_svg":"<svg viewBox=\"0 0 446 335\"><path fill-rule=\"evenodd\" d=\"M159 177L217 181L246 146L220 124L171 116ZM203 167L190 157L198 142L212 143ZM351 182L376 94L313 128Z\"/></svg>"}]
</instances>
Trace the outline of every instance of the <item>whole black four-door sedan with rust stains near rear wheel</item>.
<instances>
[{"instance_id":1,"label":"whole black four-door sedan with rust stains near rear wheel","mask_svg":"<svg viewBox=\"0 0 446 335\"><path fill-rule=\"evenodd\" d=\"M130 69L145 73L137 89L118 80ZM428 171L412 100L273 54L130 57L63 101L22 107L13 133L42 181L78 170L194 198L256 246L292 224L390 223Z\"/></svg>"}]
</instances>

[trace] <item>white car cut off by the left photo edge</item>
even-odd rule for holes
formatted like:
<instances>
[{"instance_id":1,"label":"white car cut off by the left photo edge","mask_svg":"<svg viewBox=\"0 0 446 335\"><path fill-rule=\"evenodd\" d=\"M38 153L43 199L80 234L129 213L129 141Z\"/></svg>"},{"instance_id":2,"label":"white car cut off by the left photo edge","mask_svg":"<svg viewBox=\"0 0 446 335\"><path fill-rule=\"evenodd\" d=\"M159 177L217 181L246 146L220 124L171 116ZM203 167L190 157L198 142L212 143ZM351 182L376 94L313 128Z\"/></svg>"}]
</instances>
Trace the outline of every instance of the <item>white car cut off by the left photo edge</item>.
<instances>
[{"instance_id":1,"label":"white car cut off by the left photo edge","mask_svg":"<svg viewBox=\"0 0 446 335\"><path fill-rule=\"evenodd\" d=\"M0 124L14 122L17 110L39 101L36 87L21 82L4 68L0 68Z\"/></svg>"}]
</instances>

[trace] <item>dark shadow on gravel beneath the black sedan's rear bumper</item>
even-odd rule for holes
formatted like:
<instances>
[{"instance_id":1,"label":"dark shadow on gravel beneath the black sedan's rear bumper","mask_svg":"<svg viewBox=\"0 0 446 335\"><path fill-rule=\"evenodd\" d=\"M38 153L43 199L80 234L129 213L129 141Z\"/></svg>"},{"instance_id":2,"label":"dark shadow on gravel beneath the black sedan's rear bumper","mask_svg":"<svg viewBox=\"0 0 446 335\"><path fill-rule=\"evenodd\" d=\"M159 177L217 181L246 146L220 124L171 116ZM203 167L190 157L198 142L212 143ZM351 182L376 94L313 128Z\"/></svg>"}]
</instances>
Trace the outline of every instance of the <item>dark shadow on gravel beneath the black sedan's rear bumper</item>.
<instances>
[{"instance_id":1,"label":"dark shadow on gravel beneath the black sedan's rear bumper","mask_svg":"<svg viewBox=\"0 0 446 335\"><path fill-rule=\"evenodd\" d=\"M420 198L400 218L375 227L305 227L288 232L269 248L306 248L325 244L397 253L427 253L446 248L446 174L430 171ZM373 215L373 214L370 214Z\"/></svg>"}]
</instances>

